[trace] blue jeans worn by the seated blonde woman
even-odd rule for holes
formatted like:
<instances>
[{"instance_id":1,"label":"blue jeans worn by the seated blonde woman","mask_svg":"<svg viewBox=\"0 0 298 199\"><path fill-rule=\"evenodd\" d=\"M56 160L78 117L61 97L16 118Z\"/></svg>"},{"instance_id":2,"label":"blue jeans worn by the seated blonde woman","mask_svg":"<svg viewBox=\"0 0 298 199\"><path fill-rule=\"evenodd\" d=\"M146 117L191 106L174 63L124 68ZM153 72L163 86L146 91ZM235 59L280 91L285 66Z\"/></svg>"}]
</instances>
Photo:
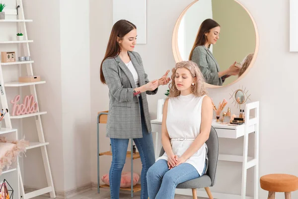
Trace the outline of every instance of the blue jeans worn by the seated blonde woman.
<instances>
[{"instance_id":1,"label":"blue jeans worn by the seated blonde woman","mask_svg":"<svg viewBox=\"0 0 298 199\"><path fill-rule=\"evenodd\" d=\"M203 174L205 170L206 165ZM191 164L182 163L169 170L167 161L160 159L147 172L149 199L174 199L178 184L199 177L198 171Z\"/></svg>"}]
</instances>

